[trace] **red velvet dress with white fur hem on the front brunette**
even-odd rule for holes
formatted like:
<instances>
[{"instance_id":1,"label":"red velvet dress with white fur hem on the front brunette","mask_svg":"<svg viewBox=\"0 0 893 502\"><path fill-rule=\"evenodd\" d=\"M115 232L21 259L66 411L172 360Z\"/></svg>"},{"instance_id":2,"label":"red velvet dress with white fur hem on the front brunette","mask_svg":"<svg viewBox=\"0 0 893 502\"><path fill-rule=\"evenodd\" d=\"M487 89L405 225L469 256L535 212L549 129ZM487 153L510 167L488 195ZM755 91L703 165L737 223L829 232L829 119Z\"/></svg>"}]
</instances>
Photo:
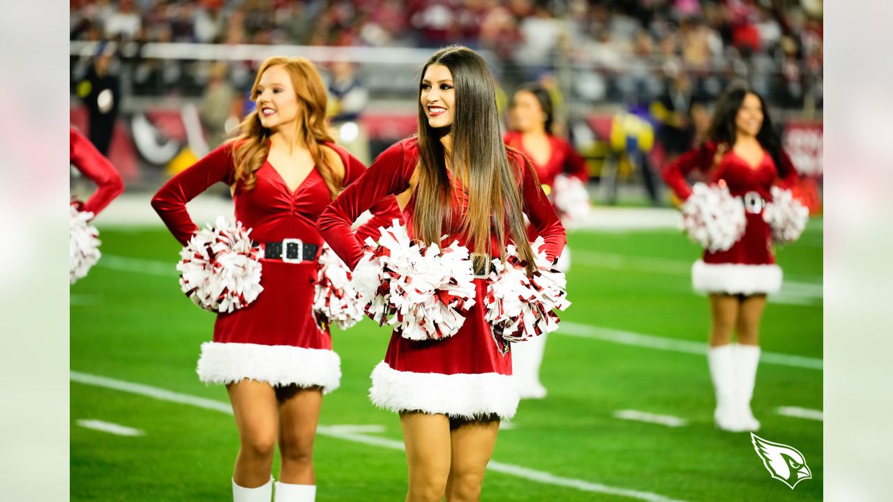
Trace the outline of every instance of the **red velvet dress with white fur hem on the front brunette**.
<instances>
[{"instance_id":1,"label":"red velvet dress with white fur hem on the front brunette","mask_svg":"<svg viewBox=\"0 0 893 502\"><path fill-rule=\"evenodd\" d=\"M409 188L418 163L416 138L408 138L385 150L355 184L332 202L320 217L319 229L330 247L353 269L363 255L357 238L345 230L357 214L376 201ZM564 229L547 201L542 188L533 182L530 170L520 155L510 160L519 174L523 172L524 212L546 240L549 259L561 254ZM454 184L452 221L445 222L446 242L457 239L474 251L473 243L459 229L460 214L467 197ZM415 196L404 209L410 237ZM491 240L490 255L498 256L496 240ZM518 391L512 381L512 356L509 345L494 337L484 321L486 280L475 279L475 304L465 317L462 328L452 337L413 341L394 331L385 360L372 372L370 397L376 406L394 411L422 411L452 417L476 418L490 414L508 419L518 406Z\"/></svg>"}]
</instances>

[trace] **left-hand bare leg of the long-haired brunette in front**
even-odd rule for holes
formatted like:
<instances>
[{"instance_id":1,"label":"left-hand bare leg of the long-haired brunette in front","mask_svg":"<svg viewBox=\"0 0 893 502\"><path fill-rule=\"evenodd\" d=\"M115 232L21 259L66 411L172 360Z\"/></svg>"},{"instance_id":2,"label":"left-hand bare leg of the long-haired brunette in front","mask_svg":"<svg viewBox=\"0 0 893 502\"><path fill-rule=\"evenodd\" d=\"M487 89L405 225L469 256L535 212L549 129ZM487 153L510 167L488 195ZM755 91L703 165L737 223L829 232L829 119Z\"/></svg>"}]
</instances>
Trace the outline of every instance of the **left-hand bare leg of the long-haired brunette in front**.
<instances>
[{"instance_id":1,"label":"left-hand bare leg of the long-haired brunette in front","mask_svg":"<svg viewBox=\"0 0 893 502\"><path fill-rule=\"evenodd\" d=\"M400 414L409 492L406 502L440 502L450 467L449 419L443 414Z\"/></svg>"}]
</instances>

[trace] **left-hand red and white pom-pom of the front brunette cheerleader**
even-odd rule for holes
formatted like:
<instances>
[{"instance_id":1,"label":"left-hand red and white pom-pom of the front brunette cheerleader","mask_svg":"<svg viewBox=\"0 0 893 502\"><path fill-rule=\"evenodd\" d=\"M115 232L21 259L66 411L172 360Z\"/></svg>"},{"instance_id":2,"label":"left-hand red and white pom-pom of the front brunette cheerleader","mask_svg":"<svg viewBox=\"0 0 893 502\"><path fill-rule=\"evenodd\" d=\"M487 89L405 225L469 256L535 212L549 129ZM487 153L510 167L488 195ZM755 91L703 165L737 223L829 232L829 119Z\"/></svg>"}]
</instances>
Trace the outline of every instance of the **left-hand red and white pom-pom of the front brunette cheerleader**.
<instances>
[{"instance_id":1,"label":"left-hand red and white pom-pom of the front brunette cheerleader","mask_svg":"<svg viewBox=\"0 0 893 502\"><path fill-rule=\"evenodd\" d=\"M354 270L355 289L366 314L388 323L405 339L455 335L474 305L474 275L468 249L454 242L441 250L409 238L397 222L381 230Z\"/></svg>"}]
</instances>

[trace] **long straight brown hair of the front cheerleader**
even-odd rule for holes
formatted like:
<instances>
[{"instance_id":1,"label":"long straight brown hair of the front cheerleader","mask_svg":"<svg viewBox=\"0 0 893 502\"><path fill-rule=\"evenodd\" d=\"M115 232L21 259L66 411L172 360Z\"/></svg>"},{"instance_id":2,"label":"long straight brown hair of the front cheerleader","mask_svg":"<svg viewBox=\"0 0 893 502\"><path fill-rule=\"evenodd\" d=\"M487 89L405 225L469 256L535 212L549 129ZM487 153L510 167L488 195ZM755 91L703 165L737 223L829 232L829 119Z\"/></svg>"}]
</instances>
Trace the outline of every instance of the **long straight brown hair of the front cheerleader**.
<instances>
[{"instance_id":1,"label":"long straight brown hair of the front cheerleader","mask_svg":"<svg viewBox=\"0 0 893 502\"><path fill-rule=\"evenodd\" d=\"M450 152L434 130L421 105L421 79L432 64L446 66L453 74L455 105ZM508 161L499 132L499 112L493 76L487 63L468 47L444 47L430 57L419 77L419 179L415 188L413 232L425 243L438 243L443 222L450 217L452 190L449 170L468 190L468 211L462 222L478 252L488 252L490 228L496 233L499 256L505 259L505 244L511 237L527 272L536 270L533 251L524 228L521 172ZM522 169L532 168L525 162ZM508 227L508 236L505 235Z\"/></svg>"}]
</instances>

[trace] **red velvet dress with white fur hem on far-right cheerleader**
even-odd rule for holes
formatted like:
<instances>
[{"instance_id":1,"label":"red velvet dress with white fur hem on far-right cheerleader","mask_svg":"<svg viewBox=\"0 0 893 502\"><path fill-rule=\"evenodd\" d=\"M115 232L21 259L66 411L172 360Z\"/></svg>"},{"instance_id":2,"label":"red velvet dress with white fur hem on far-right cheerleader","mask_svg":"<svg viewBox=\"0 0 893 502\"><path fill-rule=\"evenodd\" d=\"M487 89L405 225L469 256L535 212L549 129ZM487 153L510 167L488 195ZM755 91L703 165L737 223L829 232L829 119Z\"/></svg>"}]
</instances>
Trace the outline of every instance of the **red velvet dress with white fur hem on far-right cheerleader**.
<instances>
[{"instance_id":1,"label":"red velvet dress with white fur hem on far-right cheerleader","mask_svg":"<svg viewBox=\"0 0 893 502\"><path fill-rule=\"evenodd\" d=\"M772 185L789 188L797 181L797 171L788 155L782 153L781 167L764 152L757 165L750 165L729 150L714 161L717 146L707 143L680 155L663 168L663 179L682 200L689 198L691 187L685 177L698 171L709 183L724 184L733 197L762 197L772 201ZM715 165L714 165L715 162ZM780 175L783 173L783 175ZM763 219L760 205L745 212L744 235L726 251L704 252L692 267L692 285L711 293L752 295L774 293L781 288L781 269L772 253L772 231Z\"/></svg>"}]
</instances>

